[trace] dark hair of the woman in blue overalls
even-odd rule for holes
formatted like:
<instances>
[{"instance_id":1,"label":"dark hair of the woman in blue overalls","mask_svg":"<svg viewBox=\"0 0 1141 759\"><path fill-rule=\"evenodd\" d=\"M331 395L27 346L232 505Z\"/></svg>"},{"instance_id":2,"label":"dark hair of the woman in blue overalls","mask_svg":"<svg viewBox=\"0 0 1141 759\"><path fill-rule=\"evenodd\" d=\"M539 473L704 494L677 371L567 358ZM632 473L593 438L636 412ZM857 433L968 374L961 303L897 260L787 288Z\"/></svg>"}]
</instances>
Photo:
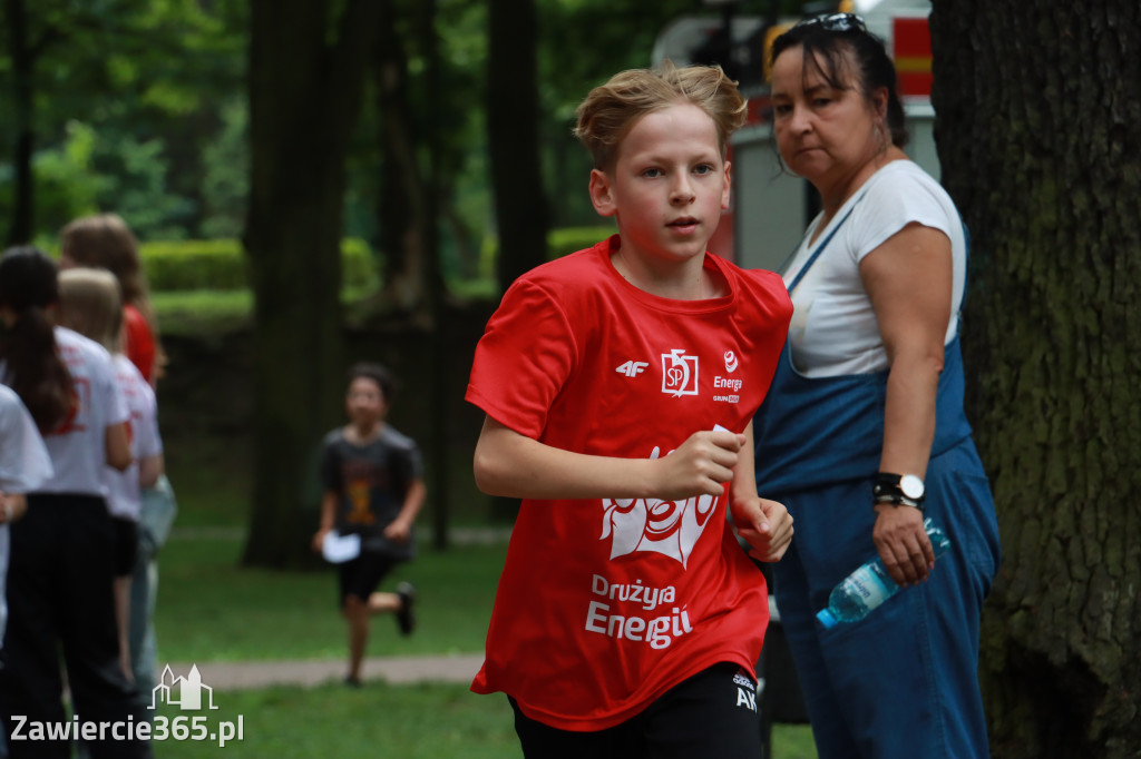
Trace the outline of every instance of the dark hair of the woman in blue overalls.
<instances>
[{"instance_id":1,"label":"dark hair of the woman in blue overalls","mask_svg":"<svg viewBox=\"0 0 1141 759\"><path fill-rule=\"evenodd\" d=\"M863 22L859 25L863 26ZM907 144L907 126L904 124L904 106L897 91L896 67L888 57L883 40L855 25L836 30L811 22L798 24L772 42L770 63L776 63L782 52L798 46L804 49L804 65L817 67L828 87L837 90L851 88L851 83L844 77L844 68L848 66L845 55L851 52L864 96L871 96L881 87L888 90L887 120L892 145L904 147Z\"/></svg>"}]
</instances>

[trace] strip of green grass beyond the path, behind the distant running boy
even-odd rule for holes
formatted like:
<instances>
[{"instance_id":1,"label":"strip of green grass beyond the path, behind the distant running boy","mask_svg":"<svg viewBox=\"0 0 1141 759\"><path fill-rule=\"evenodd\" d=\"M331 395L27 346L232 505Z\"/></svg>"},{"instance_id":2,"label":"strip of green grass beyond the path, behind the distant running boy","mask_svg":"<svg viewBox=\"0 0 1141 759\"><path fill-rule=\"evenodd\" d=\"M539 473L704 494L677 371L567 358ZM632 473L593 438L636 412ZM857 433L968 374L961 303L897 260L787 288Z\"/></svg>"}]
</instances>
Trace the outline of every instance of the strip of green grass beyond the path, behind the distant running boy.
<instances>
[{"instance_id":1,"label":"strip of green grass beyond the path, behind the distant running boy","mask_svg":"<svg viewBox=\"0 0 1141 759\"><path fill-rule=\"evenodd\" d=\"M345 622L337 611L337 577L322 572L245 569L237 539L173 539L161 557L155 625L160 662L340 659ZM415 635L396 634L377 618L369 655L483 651L505 546L422 549L381 589L398 580L419 591Z\"/></svg>"}]
</instances>

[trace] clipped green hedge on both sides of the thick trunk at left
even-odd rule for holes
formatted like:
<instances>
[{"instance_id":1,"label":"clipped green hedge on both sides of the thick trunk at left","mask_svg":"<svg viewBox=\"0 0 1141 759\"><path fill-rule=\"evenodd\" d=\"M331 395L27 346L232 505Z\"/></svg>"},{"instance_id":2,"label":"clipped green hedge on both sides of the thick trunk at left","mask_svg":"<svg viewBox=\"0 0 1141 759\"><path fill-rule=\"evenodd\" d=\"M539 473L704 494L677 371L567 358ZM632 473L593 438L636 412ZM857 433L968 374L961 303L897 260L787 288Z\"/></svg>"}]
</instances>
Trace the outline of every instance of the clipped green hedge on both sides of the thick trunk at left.
<instances>
[{"instance_id":1,"label":"clipped green hedge on both sides of the thick trunk at left","mask_svg":"<svg viewBox=\"0 0 1141 759\"><path fill-rule=\"evenodd\" d=\"M236 239L143 243L139 254L153 292L249 286L245 255ZM377 260L365 240L349 237L341 242L341 280L351 289L377 286Z\"/></svg>"}]
</instances>

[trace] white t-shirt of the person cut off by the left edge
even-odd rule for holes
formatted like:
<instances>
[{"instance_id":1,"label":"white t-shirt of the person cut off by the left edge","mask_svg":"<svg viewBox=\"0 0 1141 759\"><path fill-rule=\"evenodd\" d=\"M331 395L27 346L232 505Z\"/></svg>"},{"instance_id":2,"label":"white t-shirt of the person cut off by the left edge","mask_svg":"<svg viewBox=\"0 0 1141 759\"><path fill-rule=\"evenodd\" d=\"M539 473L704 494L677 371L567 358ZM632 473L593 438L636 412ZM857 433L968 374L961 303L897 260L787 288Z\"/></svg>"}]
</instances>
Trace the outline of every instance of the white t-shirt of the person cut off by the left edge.
<instances>
[{"instance_id":1,"label":"white t-shirt of the person cut off by the left edge","mask_svg":"<svg viewBox=\"0 0 1141 759\"><path fill-rule=\"evenodd\" d=\"M32 415L17 395L0 385L0 492L27 492L51 476L51 458ZM8 622L8 523L0 524L0 643Z\"/></svg>"}]
</instances>

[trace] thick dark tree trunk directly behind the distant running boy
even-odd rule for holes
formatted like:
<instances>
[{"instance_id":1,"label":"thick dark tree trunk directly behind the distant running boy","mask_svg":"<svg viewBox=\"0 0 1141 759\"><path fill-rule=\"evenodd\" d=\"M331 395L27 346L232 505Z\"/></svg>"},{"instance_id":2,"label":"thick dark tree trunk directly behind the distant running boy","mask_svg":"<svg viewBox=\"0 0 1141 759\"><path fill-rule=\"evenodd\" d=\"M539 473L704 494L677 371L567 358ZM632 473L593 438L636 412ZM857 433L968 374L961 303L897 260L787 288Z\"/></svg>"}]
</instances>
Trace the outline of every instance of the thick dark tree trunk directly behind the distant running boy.
<instances>
[{"instance_id":1,"label":"thick dark tree trunk directly behind the distant running boy","mask_svg":"<svg viewBox=\"0 0 1141 759\"><path fill-rule=\"evenodd\" d=\"M314 452L343 416L345 161L378 21L374 0L251 3L244 242L256 401L246 564L302 563L317 528Z\"/></svg>"}]
</instances>

